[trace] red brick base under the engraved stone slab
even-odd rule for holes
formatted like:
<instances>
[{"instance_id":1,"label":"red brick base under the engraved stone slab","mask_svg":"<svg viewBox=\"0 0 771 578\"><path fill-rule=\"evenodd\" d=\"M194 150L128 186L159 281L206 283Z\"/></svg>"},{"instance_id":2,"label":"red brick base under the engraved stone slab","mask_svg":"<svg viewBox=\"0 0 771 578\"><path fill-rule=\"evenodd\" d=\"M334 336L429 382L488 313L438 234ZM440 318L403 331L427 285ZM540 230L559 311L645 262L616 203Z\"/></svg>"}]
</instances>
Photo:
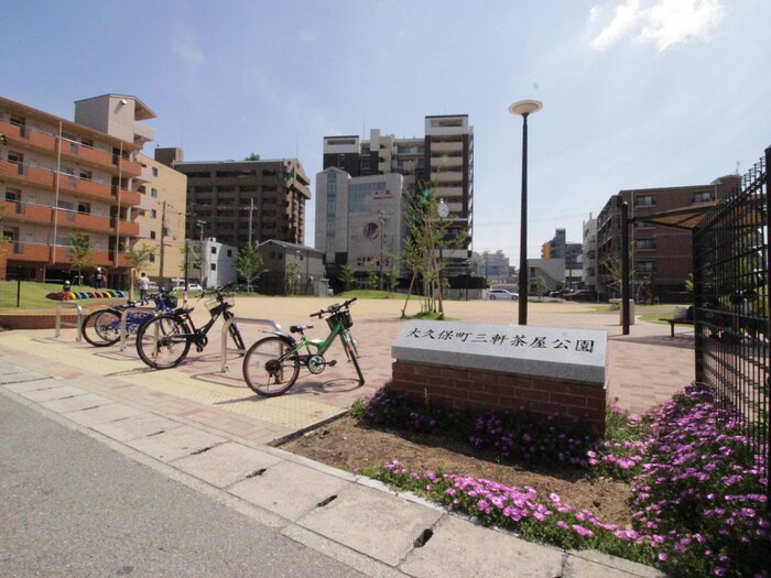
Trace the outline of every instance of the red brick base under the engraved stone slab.
<instances>
[{"instance_id":1,"label":"red brick base under the engraved stone slab","mask_svg":"<svg viewBox=\"0 0 771 578\"><path fill-rule=\"evenodd\" d=\"M565 416L566 429L605 435L607 386L478 369L400 361L393 363L392 386L413 396L466 410L526 408L539 416ZM574 425L575 423L575 425Z\"/></svg>"}]
</instances>

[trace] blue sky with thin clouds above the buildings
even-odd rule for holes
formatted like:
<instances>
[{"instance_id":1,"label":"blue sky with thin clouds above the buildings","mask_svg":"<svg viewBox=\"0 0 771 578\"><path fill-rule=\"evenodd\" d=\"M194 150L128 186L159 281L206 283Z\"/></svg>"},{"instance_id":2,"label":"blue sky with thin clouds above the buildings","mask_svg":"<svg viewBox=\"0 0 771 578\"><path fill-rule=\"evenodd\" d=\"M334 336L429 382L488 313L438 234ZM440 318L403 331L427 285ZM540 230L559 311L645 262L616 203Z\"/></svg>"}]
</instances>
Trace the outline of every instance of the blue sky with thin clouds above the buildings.
<instances>
[{"instance_id":1,"label":"blue sky with thin clouds above the buildings","mask_svg":"<svg viewBox=\"0 0 771 578\"><path fill-rule=\"evenodd\" d=\"M743 174L771 145L768 0L0 0L0 95L72 120L132 95L185 161L297 157L313 246L323 139L474 127L474 243L528 255L619 190ZM12 23L12 24L11 24Z\"/></svg>"}]
</instances>

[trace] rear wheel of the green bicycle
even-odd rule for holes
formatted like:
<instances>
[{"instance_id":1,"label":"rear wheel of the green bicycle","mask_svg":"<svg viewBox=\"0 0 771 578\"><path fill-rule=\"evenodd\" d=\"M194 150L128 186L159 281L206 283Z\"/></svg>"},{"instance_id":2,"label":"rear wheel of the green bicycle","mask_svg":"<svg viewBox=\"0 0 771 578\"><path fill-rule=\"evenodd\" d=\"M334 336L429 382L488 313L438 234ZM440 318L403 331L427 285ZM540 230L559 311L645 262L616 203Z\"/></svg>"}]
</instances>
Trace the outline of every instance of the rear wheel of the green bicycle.
<instances>
[{"instance_id":1,"label":"rear wheel of the green bicycle","mask_svg":"<svg viewBox=\"0 0 771 578\"><path fill-rule=\"evenodd\" d=\"M243 358L247 385L264 397L285 393L300 374L300 360L291 356L292 342L278 336L260 339Z\"/></svg>"}]
</instances>

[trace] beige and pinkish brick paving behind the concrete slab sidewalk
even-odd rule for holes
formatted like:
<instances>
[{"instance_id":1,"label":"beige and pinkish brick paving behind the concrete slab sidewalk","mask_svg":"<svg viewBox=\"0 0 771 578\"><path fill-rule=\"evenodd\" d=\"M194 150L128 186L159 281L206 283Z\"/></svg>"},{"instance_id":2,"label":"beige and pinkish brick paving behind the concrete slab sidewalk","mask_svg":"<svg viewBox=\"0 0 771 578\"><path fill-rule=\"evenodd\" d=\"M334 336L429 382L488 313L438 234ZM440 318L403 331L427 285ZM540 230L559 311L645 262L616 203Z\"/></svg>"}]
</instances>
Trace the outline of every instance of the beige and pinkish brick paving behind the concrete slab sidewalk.
<instances>
[{"instance_id":1,"label":"beige and pinkish brick paving behind the concrete slab sidewalk","mask_svg":"<svg viewBox=\"0 0 771 578\"><path fill-rule=\"evenodd\" d=\"M333 299L334 301L334 299ZM274 315L282 327L307 323L307 314L328 299L241 299L237 315L265 317ZM139 360L133 343L124 351L118 346L93 348L75 341L75 330L64 329L61 338L53 329L0 332L0 356L45 370L53 377L74 381L79 386L106 393L144 406L159 414L184 417L259 444L271 444L297 430L333 418L358 397L369 396L391 377L391 343L401 331L398 320L402 304L367 303L354 309L354 335L359 340L361 368L367 379L358 385L352 367L345 362L339 345L327 356L338 364L319 375L301 372L295 386L285 395L259 397L242 381L240 359L229 361L229 372L220 371L219 331L215 328L203 353L194 350L180 368L156 371ZM379 308L378 308L379 306ZM464 321L503 324L517 318L515 303L447 302L448 317ZM569 312L569 313L568 313ZM608 331L608 397L631 412L639 413L666 401L672 393L694 379L693 328L669 336L669 327L638 323L630 336L621 336L618 313L582 313L579 306L531 307L529 325L583 327ZM411 313L410 310L408 313ZM314 337L325 334L326 324L314 321ZM242 325L247 343L257 340L260 326Z\"/></svg>"}]
</instances>

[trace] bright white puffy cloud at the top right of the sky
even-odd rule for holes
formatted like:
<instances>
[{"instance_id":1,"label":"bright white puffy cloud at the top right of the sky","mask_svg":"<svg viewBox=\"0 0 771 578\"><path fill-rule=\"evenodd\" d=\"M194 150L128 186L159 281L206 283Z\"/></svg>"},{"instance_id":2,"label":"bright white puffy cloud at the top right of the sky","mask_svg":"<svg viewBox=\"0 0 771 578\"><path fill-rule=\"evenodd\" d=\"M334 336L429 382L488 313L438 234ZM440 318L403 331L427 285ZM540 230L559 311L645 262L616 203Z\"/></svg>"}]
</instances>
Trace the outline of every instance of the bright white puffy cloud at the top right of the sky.
<instances>
[{"instance_id":1,"label":"bright white puffy cloud at the top right of the sky","mask_svg":"<svg viewBox=\"0 0 771 578\"><path fill-rule=\"evenodd\" d=\"M602 12L600 7L590 9L590 25L600 23ZM616 7L610 23L594 37L591 46L604 51L630 36L653 42L662 52L689 40L709 40L724 14L720 0L658 0L648 8L641 8L639 0L627 0Z\"/></svg>"}]
</instances>

